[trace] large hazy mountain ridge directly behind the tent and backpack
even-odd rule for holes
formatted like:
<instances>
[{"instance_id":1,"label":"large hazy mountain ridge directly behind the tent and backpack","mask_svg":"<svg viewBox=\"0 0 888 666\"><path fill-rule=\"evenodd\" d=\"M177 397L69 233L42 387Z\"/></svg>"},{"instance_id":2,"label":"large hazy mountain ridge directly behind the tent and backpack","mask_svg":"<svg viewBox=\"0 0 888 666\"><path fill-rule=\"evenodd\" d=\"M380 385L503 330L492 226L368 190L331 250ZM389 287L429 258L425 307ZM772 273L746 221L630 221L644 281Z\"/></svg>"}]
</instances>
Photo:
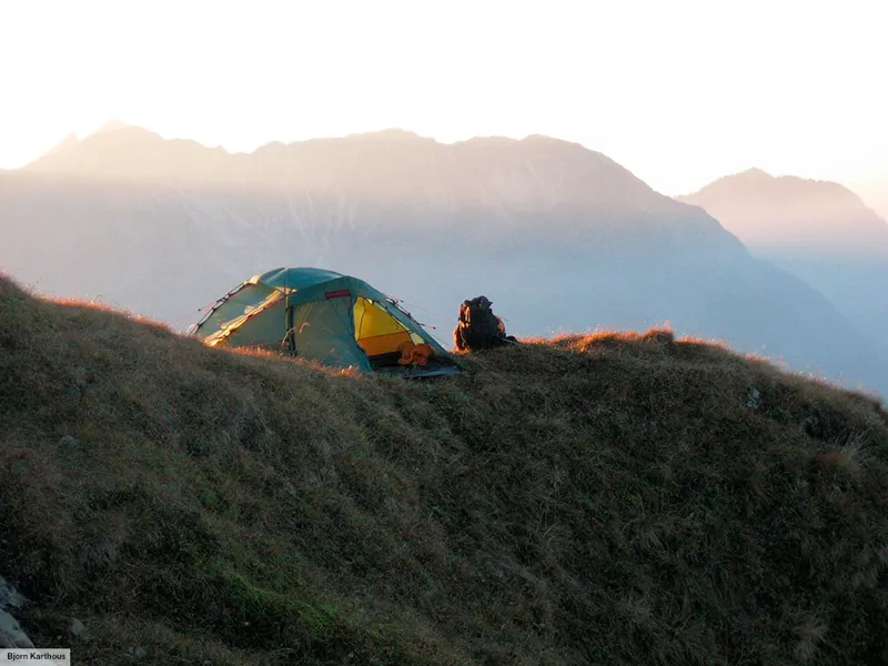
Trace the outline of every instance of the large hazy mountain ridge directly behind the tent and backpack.
<instances>
[{"instance_id":1,"label":"large hazy mountain ridge directly behind the tent and backpack","mask_svg":"<svg viewBox=\"0 0 888 666\"><path fill-rule=\"evenodd\" d=\"M270 266L315 265L422 303L447 344L485 293L517 335L668 321L851 384L885 376L826 297L710 214L542 135L384 130L231 154L127 127L2 174L0 224L20 281L175 325Z\"/></svg>"}]
</instances>

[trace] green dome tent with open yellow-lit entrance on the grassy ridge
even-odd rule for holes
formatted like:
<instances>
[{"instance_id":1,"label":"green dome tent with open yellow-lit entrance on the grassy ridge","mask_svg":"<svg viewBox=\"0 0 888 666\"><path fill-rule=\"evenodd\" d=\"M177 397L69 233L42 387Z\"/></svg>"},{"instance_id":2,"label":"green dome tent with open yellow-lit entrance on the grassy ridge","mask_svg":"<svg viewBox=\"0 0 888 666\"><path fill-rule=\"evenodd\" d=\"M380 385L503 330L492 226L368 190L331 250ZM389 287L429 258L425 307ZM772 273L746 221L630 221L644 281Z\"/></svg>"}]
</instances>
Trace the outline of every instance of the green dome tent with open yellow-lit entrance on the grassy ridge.
<instances>
[{"instance_id":1,"label":"green dome tent with open yellow-lit entrance on the grassy ridge","mask_svg":"<svg viewBox=\"0 0 888 666\"><path fill-rule=\"evenodd\" d=\"M325 365L404 376L458 365L410 313L366 282L321 269L275 269L216 301L189 331L210 346L286 351ZM424 366L398 365L403 342L426 343Z\"/></svg>"}]
</instances>

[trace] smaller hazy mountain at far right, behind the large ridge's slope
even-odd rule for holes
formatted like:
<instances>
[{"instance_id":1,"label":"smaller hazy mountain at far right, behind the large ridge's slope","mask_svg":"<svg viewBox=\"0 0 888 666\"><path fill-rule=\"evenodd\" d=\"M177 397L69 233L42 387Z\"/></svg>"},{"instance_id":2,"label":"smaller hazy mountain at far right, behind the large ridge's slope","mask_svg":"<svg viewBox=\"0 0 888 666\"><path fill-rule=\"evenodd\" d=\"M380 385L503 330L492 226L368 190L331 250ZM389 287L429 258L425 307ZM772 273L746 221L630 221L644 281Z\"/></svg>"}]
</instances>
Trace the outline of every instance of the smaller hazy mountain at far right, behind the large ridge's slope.
<instances>
[{"instance_id":1,"label":"smaller hazy mountain at far right, behind the large ridge's slope","mask_svg":"<svg viewBox=\"0 0 888 666\"><path fill-rule=\"evenodd\" d=\"M860 332L888 326L888 224L828 181L753 169L679 198L699 205L756 255L827 295Z\"/></svg>"}]
</instances>

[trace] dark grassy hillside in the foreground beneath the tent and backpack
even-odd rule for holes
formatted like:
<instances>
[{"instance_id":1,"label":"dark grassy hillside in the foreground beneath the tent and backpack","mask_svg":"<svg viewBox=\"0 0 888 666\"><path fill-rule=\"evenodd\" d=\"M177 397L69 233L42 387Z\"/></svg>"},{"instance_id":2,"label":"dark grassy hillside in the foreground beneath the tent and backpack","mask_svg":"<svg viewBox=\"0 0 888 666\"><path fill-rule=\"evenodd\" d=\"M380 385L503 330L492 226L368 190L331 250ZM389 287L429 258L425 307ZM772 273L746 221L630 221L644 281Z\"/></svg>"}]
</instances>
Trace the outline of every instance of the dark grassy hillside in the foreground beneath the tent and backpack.
<instances>
[{"instance_id":1,"label":"dark grassy hillside in the foreground beneath the tent and backpack","mask_svg":"<svg viewBox=\"0 0 888 666\"><path fill-rule=\"evenodd\" d=\"M78 664L888 659L876 401L693 341L531 342L351 376L0 280L22 626Z\"/></svg>"}]
</instances>

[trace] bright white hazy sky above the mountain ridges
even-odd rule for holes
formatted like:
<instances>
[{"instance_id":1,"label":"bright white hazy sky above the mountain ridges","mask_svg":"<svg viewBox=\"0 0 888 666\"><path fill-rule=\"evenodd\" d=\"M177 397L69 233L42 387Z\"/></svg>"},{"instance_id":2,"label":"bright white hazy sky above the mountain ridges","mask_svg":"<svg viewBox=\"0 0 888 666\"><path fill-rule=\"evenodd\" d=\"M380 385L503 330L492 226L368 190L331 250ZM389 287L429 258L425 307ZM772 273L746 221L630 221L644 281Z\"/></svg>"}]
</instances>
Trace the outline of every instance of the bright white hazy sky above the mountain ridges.
<instances>
[{"instance_id":1,"label":"bright white hazy sky above the mountain ridges","mask_svg":"<svg viewBox=\"0 0 888 666\"><path fill-rule=\"evenodd\" d=\"M111 118L232 151L544 133L667 194L756 165L888 216L886 43L879 0L0 0L0 168Z\"/></svg>"}]
</instances>

